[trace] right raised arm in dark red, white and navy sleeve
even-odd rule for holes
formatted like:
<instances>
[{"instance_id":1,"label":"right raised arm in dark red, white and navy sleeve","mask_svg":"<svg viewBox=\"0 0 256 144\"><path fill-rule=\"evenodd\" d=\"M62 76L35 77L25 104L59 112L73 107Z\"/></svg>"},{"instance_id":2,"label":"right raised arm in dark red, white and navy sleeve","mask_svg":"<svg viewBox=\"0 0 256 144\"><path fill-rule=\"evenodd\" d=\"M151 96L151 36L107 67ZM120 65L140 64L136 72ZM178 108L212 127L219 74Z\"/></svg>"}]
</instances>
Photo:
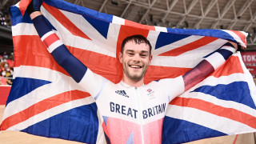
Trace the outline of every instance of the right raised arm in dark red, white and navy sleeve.
<instances>
[{"instance_id":1,"label":"right raised arm in dark red, white and navy sleeve","mask_svg":"<svg viewBox=\"0 0 256 144\"><path fill-rule=\"evenodd\" d=\"M237 49L238 45L236 43L226 42L220 49L210 54L210 56L198 63L192 70L184 74L185 90L189 90L192 86L195 86L198 82L209 76L214 70L217 70Z\"/></svg>"}]
</instances>

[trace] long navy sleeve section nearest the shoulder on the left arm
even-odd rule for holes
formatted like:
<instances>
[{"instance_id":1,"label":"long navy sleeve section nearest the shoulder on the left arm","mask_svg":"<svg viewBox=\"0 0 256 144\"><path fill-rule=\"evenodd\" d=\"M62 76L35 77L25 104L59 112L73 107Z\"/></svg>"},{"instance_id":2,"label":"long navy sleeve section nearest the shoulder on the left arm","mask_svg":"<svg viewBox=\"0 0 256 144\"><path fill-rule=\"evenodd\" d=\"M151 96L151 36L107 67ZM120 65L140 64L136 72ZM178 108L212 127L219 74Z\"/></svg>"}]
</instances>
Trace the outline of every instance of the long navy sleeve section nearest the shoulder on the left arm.
<instances>
[{"instance_id":1,"label":"long navy sleeve section nearest the shoulder on the left arm","mask_svg":"<svg viewBox=\"0 0 256 144\"><path fill-rule=\"evenodd\" d=\"M86 74L87 67L80 62L78 58L75 58L65 45L58 46L51 54L55 61L74 78L75 82L82 80L83 76Z\"/></svg>"}]
</instances>

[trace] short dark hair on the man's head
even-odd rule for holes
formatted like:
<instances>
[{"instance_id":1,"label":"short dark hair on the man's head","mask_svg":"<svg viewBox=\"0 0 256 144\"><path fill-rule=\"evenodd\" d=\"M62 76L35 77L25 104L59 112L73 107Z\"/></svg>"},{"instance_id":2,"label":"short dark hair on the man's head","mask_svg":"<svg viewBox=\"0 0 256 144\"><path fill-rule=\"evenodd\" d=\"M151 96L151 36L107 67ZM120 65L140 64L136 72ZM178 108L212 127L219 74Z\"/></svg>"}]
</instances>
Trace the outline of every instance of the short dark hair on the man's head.
<instances>
[{"instance_id":1,"label":"short dark hair on the man's head","mask_svg":"<svg viewBox=\"0 0 256 144\"><path fill-rule=\"evenodd\" d=\"M141 44L141 43L146 43L147 45L150 46L150 54L151 54L151 49L152 46L150 44L150 41L147 40L143 35L137 34L137 35L132 35L130 37L126 37L122 41L122 47L121 47L121 53L123 54L123 48L125 47L127 42L134 41L136 44Z\"/></svg>"}]
</instances>

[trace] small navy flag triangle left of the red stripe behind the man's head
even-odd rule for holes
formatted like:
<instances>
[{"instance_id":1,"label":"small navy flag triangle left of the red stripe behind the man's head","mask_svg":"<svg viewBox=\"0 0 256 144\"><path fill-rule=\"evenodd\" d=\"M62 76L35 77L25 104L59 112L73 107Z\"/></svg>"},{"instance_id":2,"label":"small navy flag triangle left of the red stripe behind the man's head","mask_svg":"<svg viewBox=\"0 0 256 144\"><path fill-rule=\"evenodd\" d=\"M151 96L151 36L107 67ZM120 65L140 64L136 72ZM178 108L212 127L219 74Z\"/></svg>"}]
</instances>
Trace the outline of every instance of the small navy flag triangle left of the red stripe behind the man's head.
<instances>
[{"instance_id":1,"label":"small navy flag triangle left of the red stripe behind the man's head","mask_svg":"<svg viewBox=\"0 0 256 144\"><path fill-rule=\"evenodd\" d=\"M102 36L103 36L104 38L107 38L107 33L108 33L108 31L109 31L110 22L104 22L104 21L100 21L100 20L98 20L98 19L89 18L89 17L84 17L84 18L86 18L86 20L87 20L88 22L90 22L90 24L91 24L92 26L94 26L94 28L95 28L96 30L98 30L98 32L99 32L100 34L102 34Z\"/></svg>"}]
</instances>

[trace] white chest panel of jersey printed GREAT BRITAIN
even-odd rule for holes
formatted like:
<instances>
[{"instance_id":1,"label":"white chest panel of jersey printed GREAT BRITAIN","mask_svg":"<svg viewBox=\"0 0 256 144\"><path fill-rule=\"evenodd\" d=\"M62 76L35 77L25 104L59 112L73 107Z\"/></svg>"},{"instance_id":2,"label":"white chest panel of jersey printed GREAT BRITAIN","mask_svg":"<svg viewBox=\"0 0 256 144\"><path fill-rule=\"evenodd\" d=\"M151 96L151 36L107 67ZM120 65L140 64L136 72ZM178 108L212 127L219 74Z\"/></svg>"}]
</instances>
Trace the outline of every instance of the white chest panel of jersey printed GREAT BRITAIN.
<instances>
[{"instance_id":1,"label":"white chest panel of jersey printed GREAT BRITAIN","mask_svg":"<svg viewBox=\"0 0 256 144\"><path fill-rule=\"evenodd\" d=\"M96 103L102 116L146 124L163 118L168 96L158 86L106 86Z\"/></svg>"}]
</instances>

